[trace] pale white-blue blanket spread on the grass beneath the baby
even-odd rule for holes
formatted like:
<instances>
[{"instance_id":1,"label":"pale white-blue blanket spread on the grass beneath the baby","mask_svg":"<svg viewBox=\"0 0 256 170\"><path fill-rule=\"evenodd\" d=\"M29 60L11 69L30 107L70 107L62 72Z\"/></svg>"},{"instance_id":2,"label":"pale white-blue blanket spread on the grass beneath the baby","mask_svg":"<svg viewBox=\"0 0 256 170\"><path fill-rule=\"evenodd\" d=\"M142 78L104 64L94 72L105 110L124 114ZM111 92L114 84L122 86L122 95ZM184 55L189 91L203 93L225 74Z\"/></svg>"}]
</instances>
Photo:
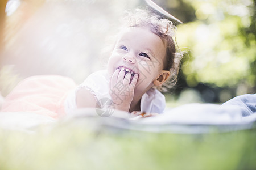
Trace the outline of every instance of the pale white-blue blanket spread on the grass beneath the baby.
<instances>
[{"instance_id":1,"label":"pale white-blue blanket spread on the grass beneath the baby","mask_svg":"<svg viewBox=\"0 0 256 170\"><path fill-rule=\"evenodd\" d=\"M167 108L163 114L147 118L134 119L121 111L115 113L110 117L100 117L95 108L82 109L74 116L65 118L65 121L93 118L92 121L100 126L172 133L250 129L255 127L256 122L256 94L237 96L222 105L194 103ZM34 113L0 112L2 128L30 131L36 126L55 122L58 120Z\"/></svg>"}]
</instances>

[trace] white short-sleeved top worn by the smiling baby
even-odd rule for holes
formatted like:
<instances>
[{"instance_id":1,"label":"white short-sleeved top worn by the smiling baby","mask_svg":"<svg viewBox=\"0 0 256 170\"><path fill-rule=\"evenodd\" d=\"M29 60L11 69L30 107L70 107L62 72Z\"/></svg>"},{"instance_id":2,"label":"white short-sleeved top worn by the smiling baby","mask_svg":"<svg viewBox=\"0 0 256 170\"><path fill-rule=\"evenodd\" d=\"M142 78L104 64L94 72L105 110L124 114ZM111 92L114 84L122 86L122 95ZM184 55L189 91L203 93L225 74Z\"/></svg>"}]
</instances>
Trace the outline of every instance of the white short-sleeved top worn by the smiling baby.
<instances>
[{"instance_id":1,"label":"white short-sleeved top worn by the smiling baby","mask_svg":"<svg viewBox=\"0 0 256 170\"><path fill-rule=\"evenodd\" d=\"M109 95L109 80L110 77L106 70L97 71L92 73L80 84L75 90L69 92L67 99L65 100L65 111L67 114L72 114L77 109L76 95L77 90L80 88L86 88L94 94L96 101L100 99L111 99ZM151 88L141 98L141 111L146 113L163 113L166 107L166 100L164 95Z\"/></svg>"}]
</instances>

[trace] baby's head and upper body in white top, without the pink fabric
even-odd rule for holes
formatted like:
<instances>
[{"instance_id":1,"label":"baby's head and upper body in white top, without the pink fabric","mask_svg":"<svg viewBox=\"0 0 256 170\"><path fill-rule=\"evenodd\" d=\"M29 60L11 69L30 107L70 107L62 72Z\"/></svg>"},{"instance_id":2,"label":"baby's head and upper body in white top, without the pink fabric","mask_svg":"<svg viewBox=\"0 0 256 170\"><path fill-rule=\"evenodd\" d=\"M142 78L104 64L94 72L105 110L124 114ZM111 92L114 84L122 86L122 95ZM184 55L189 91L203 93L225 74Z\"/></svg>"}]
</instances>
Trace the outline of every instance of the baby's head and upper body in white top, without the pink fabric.
<instances>
[{"instance_id":1,"label":"baby's head and upper body in white top, without the pink fabric","mask_svg":"<svg viewBox=\"0 0 256 170\"><path fill-rule=\"evenodd\" d=\"M89 75L69 95L67 111L106 98L118 110L162 113L166 101L157 88L175 84L182 56L175 49L175 28L148 10L127 12L107 69Z\"/></svg>"}]
</instances>

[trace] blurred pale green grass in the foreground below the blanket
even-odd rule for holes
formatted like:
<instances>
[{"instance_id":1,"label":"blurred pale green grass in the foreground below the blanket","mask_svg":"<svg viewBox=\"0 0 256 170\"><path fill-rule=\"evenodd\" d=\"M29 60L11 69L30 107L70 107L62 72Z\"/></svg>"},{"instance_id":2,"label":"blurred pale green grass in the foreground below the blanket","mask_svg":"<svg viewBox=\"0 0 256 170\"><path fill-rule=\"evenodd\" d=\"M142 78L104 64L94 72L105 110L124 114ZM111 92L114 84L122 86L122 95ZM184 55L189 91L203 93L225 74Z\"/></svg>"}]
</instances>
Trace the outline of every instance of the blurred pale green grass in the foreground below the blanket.
<instances>
[{"instance_id":1,"label":"blurred pale green grass in the foreground below the blanket","mask_svg":"<svg viewBox=\"0 0 256 170\"><path fill-rule=\"evenodd\" d=\"M255 169L256 131L174 134L84 119L36 133L0 130L0 169Z\"/></svg>"}]
</instances>

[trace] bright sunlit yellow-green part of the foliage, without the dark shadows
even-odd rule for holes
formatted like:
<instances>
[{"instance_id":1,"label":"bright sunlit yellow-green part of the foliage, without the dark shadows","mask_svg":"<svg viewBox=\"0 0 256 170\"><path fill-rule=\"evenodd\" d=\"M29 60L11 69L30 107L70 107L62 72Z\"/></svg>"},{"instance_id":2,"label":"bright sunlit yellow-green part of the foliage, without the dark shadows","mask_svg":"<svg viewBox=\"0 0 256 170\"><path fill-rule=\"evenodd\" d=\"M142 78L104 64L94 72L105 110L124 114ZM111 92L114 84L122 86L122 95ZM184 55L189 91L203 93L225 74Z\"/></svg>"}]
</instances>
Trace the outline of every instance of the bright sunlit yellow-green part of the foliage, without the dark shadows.
<instances>
[{"instance_id":1,"label":"bright sunlit yellow-green part of the foliage, without the dark shadows","mask_svg":"<svg viewBox=\"0 0 256 170\"><path fill-rule=\"evenodd\" d=\"M180 25L180 45L191 48L184 67L189 86L255 86L255 10L251 1L191 1L197 21ZM189 29L189 31L188 31ZM183 37L184 36L184 37ZM186 65L186 64L185 64Z\"/></svg>"}]
</instances>

